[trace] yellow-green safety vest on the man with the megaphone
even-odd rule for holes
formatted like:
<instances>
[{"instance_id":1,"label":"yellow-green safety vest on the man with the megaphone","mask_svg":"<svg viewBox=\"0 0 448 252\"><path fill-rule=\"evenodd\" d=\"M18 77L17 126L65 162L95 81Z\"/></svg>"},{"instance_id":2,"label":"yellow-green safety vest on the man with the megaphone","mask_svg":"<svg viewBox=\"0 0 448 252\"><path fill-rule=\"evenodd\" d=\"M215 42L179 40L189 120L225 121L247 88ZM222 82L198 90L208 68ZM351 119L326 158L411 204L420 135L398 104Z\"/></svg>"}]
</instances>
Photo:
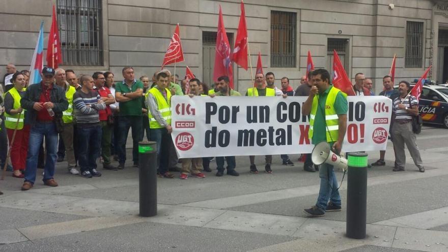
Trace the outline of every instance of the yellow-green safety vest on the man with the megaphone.
<instances>
[{"instance_id":1,"label":"yellow-green safety vest on the man with the megaphone","mask_svg":"<svg viewBox=\"0 0 448 252\"><path fill-rule=\"evenodd\" d=\"M336 110L334 109L334 102L336 101L336 96L339 92L341 92L341 90L332 87L328 92L328 96L325 101L325 122L328 127L328 130L326 130L326 137L328 143L338 141L339 137L339 117L338 114L336 114ZM344 95L344 97L347 97L345 93L341 93ZM308 131L308 137L310 139L313 139L314 119L316 118L318 106L318 98L317 95L315 95L310 113L310 130Z\"/></svg>"}]
</instances>

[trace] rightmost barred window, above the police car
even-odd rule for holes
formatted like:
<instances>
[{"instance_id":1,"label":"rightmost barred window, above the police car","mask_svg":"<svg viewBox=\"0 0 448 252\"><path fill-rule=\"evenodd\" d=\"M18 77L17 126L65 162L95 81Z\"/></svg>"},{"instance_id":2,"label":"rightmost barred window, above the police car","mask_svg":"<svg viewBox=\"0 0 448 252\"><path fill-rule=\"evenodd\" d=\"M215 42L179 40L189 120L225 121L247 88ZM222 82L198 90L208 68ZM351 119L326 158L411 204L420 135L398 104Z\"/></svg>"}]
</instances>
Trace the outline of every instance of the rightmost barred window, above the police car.
<instances>
[{"instance_id":1,"label":"rightmost barred window, above the police car","mask_svg":"<svg viewBox=\"0 0 448 252\"><path fill-rule=\"evenodd\" d=\"M405 67L422 67L423 63L423 22L406 22Z\"/></svg>"}]
</instances>

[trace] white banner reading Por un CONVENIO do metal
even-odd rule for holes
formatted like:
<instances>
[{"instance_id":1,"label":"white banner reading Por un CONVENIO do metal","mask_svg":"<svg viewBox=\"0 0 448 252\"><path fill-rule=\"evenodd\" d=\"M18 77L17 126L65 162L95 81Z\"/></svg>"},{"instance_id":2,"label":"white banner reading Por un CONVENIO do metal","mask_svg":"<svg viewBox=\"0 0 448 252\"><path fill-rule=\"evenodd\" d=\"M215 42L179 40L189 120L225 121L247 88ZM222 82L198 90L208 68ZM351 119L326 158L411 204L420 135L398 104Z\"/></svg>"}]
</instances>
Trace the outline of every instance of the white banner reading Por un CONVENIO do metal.
<instances>
[{"instance_id":1,"label":"white banner reading Por un CONVENIO do metal","mask_svg":"<svg viewBox=\"0 0 448 252\"><path fill-rule=\"evenodd\" d=\"M173 96L172 138L179 158L311 153L307 97ZM385 150L392 101L349 96L343 152Z\"/></svg>"}]
</instances>

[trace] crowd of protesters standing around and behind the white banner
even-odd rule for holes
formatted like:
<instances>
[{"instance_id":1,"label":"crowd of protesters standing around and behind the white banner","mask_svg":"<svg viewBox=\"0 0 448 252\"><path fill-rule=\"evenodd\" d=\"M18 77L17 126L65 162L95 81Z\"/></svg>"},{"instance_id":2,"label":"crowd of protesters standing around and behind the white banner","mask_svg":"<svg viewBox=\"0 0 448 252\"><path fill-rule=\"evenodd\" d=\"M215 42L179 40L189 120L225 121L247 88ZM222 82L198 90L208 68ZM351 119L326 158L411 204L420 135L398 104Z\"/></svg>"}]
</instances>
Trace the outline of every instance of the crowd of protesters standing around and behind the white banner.
<instances>
[{"instance_id":1,"label":"crowd of protesters standing around and behind the white banner","mask_svg":"<svg viewBox=\"0 0 448 252\"><path fill-rule=\"evenodd\" d=\"M106 170L126 167L126 143L129 129L132 137L132 165L138 167L138 142L142 139L157 143L157 174L161 178L174 178L170 171L180 172L180 179L188 176L205 178L203 171L211 172L210 161L216 160L216 176L239 176L235 171L234 156L188 158L179 160L171 138L171 97L241 96L230 88L229 77L221 76L209 89L197 78L181 80L163 69L150 79L144 75L136 78L132 67L124 67L122 78L112 72L95 72L93 75L77 74L73 70L44 67L40 83L29 83L30 73L17 71L8 64L0 96L0 165L6 162L9 142L12 176L24 178L22 190L33 187L38 169L43 169L43 183L58 186L54 180L56 162L67 161L67 170L84 178L101 176L97 162ZM246 96L310 96L312 89L310 71L300 79L294 90L288 77L281 78L281 87L275 86L275 75L257 73L255 87L247 89ZM152 82L152 83L151 83ZM383 78L384 95L393 100L393 126L396 162L394 171L403 171L404 144L408 146L419 171L424 172L415 134L410 127L411 115L418 114L418 104L413 96L405 96L409 83L401 81L398 91L393 89L390 76ZM374 95L372 80L362 73L355 75L353 89L356 95ZM186 94L188 93L188 94ZM373 166L385 165L384 152ZM129 157L130 159L131 157ZM281 155L282 164L293 166L288 155ZM300 159L300 158L299 158ZM311 155L303 154L303 170L319 171ZM118 165L114 165L117 161ZM129 161L129 160L128 160ZM225 161L227 166L225 166ZM255 156L249 156L250 173L258 173ZM177 164L181 163L182 167ZM272 173L272 156L265 156L265 173Z\"/></svg>"}]
</instances>

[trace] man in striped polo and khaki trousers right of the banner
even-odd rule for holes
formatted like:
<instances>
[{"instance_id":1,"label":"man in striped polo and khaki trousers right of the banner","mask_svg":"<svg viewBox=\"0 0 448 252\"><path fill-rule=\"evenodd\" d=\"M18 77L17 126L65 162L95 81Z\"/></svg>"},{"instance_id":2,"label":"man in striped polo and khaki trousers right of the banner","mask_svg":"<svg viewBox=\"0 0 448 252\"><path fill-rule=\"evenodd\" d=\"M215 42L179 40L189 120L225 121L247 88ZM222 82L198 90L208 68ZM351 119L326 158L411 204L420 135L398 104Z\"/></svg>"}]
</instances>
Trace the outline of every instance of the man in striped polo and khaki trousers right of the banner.
<instances>
[{"instance_id":1,"label":"man in striped polo and khaki trousers right of the banner","mask_svg":"<svg viewBox=\"0 0 448 252\"><path fill-rule=\"evenodd\" d=\"M412 131L412 116L418 116L418 100L409 94L409 82L402 80L398 86L400 96L394 99L395 122L392 127L392 142L394 143L395 162L394 172L404 171L406 153L404 144L409 150L415 166L422 173L425 172L423 161L416 143L415 133Z\"/></svg>"}]
</instances>

